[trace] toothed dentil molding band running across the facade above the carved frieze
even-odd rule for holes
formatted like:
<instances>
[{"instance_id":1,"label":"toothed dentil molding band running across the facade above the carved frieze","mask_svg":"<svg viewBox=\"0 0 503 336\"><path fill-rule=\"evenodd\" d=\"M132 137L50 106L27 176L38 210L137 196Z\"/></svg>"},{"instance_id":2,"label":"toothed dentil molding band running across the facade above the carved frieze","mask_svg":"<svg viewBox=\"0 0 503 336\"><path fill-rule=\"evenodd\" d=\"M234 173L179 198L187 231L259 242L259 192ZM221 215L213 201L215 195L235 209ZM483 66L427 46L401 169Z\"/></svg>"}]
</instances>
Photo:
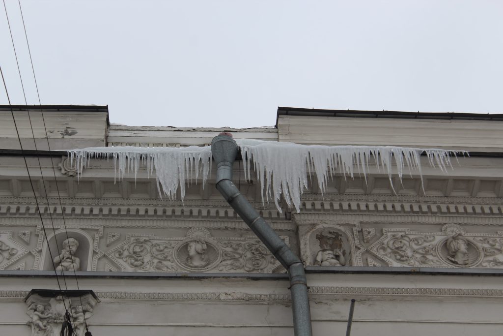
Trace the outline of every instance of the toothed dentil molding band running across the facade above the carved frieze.
<instances>
[{"instance_id":1,"label":"toothed dentil molding band running across the facade above the carved frieze","mask_svg":"<svg viewBox=\"0 0 503 336\"><path fill-rule=\"evenodd\" d=\"M170 205L145 205L149 203L145 199L120 199L111 201L113 205L102 204L99 198L68 198L63 201L65 216L81 217L93 216L103 218L135 217L135 218L219 218L237 219L237 213L229 208L228 204L221 201L192 201L185 206L181 204ZM67 200L72 200L68 203ZM128 201L126 201L128 200ZM0 197L0 214L2 215L30 215L38 216L37 207L31 203L30 197ZM34 199L33 199L34 201ZM117 201L117 202L116 202ZM77 205L78 203L78 205ZM368 214L422 214L422 215L463 215L503 217L503 202L493 204L438 204L409 203L404 200L304 200L301 213L368 213ZM58 203L51 203L53 216L61 216L61 208ZM256 209L268 220L281 220L284 215L276 209L263 208L261 204L254 203ZM41 204L40 208L45 215L49 212L49 206Z\"/></svg>"}]
</instances>

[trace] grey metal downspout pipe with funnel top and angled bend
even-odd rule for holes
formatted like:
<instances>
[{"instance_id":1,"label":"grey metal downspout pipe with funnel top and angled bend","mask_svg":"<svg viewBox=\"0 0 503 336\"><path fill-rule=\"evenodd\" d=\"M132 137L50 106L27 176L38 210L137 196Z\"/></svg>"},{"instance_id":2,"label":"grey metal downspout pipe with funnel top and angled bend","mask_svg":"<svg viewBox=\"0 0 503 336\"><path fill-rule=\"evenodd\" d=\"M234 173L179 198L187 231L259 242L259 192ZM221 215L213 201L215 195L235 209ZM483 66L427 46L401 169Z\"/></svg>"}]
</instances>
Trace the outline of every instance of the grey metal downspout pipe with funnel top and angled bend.
<instances>
[{"instance_id":1,"label":"grey metal downspout pipe with funnel top and angled bend","mask_svg":"<svg viewBox=\"0 0 503 336\"><path fill-rule=\"evenodd\" d=\"M216 188L288 271L295 336L311 336L311 312L304 264L232 183L232 164L237 155L237 144L230 133L220 133L213 138L211 152L217 164Z\"/></svg>"}]
</instances>

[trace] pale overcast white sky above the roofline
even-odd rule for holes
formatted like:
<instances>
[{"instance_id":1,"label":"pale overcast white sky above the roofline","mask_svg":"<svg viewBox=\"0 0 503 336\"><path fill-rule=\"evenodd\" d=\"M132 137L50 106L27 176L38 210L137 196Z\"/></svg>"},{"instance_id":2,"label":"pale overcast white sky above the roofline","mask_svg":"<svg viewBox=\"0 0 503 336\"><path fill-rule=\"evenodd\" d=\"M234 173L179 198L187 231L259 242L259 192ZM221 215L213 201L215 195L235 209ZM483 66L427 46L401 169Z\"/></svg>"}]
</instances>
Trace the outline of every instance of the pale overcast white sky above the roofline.
<instances>
[{"instance_id":1,"label":"pale overcast white sky above the roofline","mask_svg":"<svg viewBox=\"0 0 503 336\"><path fill-rule=\"evenodd\" d=\"M5 1L38 104L18 1ZM42 104L108 104L115 123L266 126L278 106L503 110L501 0L21 5ZM0 6L0 65L12 103L24 104Z\"/></svg>"}]
</instances>

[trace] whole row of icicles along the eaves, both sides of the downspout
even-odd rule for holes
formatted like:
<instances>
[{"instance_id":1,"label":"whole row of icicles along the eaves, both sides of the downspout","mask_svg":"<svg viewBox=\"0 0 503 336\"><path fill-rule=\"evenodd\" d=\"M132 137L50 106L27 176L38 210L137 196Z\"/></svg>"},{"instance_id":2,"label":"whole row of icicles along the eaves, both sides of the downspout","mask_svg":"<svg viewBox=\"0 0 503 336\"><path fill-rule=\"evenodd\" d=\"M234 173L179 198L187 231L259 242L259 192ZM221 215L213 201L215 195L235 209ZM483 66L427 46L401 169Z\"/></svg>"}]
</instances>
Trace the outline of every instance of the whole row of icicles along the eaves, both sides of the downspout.
<instances>
[{"instance_id":1,"label":"whole row of icicles along the eaves, both sides of the downspout","mask_svg":"<svg viewBox=\"0 0 503 336\"><path fill-rule=\"evenodd\" d=\"M329 178L336 171L345 177L363 175L365 180L370 165L375 165L387 173L391 186L393 167L401 180L404 168L408 172L416 171L422 178L421 155L426 154L432 167L446 172L452 167L450 156L467 152L441 149L419 149L391 146L320 146L298 145L275 141L249 139L236 140L243 158L244 175L250 179L253 166L260 181L263 201L271 198L281 212L281 195L289 207L300 211L300 197L308 186L308 176L313 173L318 187L324 192ZM147 171L155 171L157 187L162 187L165 195L173 199L180 186L182 200L185 196L187 180L203 180L203 185L211 171L211 147L184 148L139 148L139 147L97 147L68 151L71 163L75 161L77 175L86 167L89 159L112 159L116 176L119 180L127 171L136 174L140 164L146 165ZM253 161L253 164L251 163ZM393 166L394 163L394 166ZM159 188L160 193L160 188Z\"/></svg>"}]
</instances>

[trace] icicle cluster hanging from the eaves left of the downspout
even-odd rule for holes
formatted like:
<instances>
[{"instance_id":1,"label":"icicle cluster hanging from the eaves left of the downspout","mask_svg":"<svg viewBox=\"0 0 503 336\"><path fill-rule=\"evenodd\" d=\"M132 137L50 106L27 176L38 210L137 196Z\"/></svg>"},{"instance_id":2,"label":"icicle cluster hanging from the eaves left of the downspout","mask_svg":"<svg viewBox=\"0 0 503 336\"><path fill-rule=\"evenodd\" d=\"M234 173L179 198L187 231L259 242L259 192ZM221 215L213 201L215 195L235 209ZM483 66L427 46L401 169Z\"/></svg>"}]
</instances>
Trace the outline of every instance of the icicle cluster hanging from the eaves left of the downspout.
<instances>
[{"instance_id":1,"label":"icicle cluster hanging from the eaves left of the downspout","mask_svg":"<svg viewBox=\"0 0 503 336\"><path fill-rule=\"evenodd\" d=\"M126 172L132 171L136 180L142 163L146 162L147 174L155 170L159 194L174 199L180 187L182 200L188 177L202 176L203 186L211 170L211 147L190 146L184 148L140 148L140 147L92 147L68 151L75 160L77 177L82 174L91 158L112 159L114 180L119 181ZM190 176L189 176L190 175ZM162 188L161 188L162 187ZM161 192L162 189L162 192Z\"/></svg>"}]
</instances>

